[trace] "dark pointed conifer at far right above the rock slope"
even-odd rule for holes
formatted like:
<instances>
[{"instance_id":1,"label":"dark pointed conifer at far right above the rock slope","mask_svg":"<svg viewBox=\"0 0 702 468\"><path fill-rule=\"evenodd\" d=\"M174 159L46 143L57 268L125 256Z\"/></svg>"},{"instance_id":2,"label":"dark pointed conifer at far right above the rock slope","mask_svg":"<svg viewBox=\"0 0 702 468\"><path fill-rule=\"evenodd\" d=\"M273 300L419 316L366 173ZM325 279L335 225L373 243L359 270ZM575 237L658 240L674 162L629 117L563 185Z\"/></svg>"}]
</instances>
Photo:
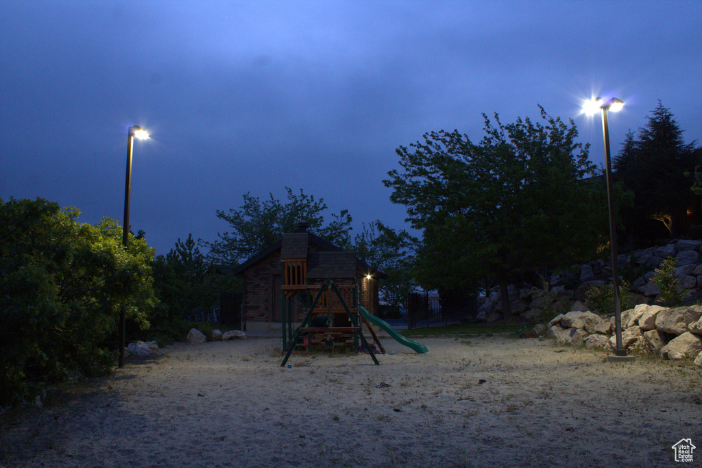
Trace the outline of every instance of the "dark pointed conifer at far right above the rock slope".
<instances>
[{"instance_id":1,"label":"dark pointed conifer at far right above the rock slope","mask_svg":"<svg viewBox=\"0 0 702 468\"><path fill-rule=\"evenodd\" d=\"M658 101L639 138L629 132L615 157L616 177L635 194L633 209L626 213L629 222L659 220L675 236L694 197L684 174L694 170L697 160L695 142L685 144L675 117Z\"/></svg>"}]
</instances>

